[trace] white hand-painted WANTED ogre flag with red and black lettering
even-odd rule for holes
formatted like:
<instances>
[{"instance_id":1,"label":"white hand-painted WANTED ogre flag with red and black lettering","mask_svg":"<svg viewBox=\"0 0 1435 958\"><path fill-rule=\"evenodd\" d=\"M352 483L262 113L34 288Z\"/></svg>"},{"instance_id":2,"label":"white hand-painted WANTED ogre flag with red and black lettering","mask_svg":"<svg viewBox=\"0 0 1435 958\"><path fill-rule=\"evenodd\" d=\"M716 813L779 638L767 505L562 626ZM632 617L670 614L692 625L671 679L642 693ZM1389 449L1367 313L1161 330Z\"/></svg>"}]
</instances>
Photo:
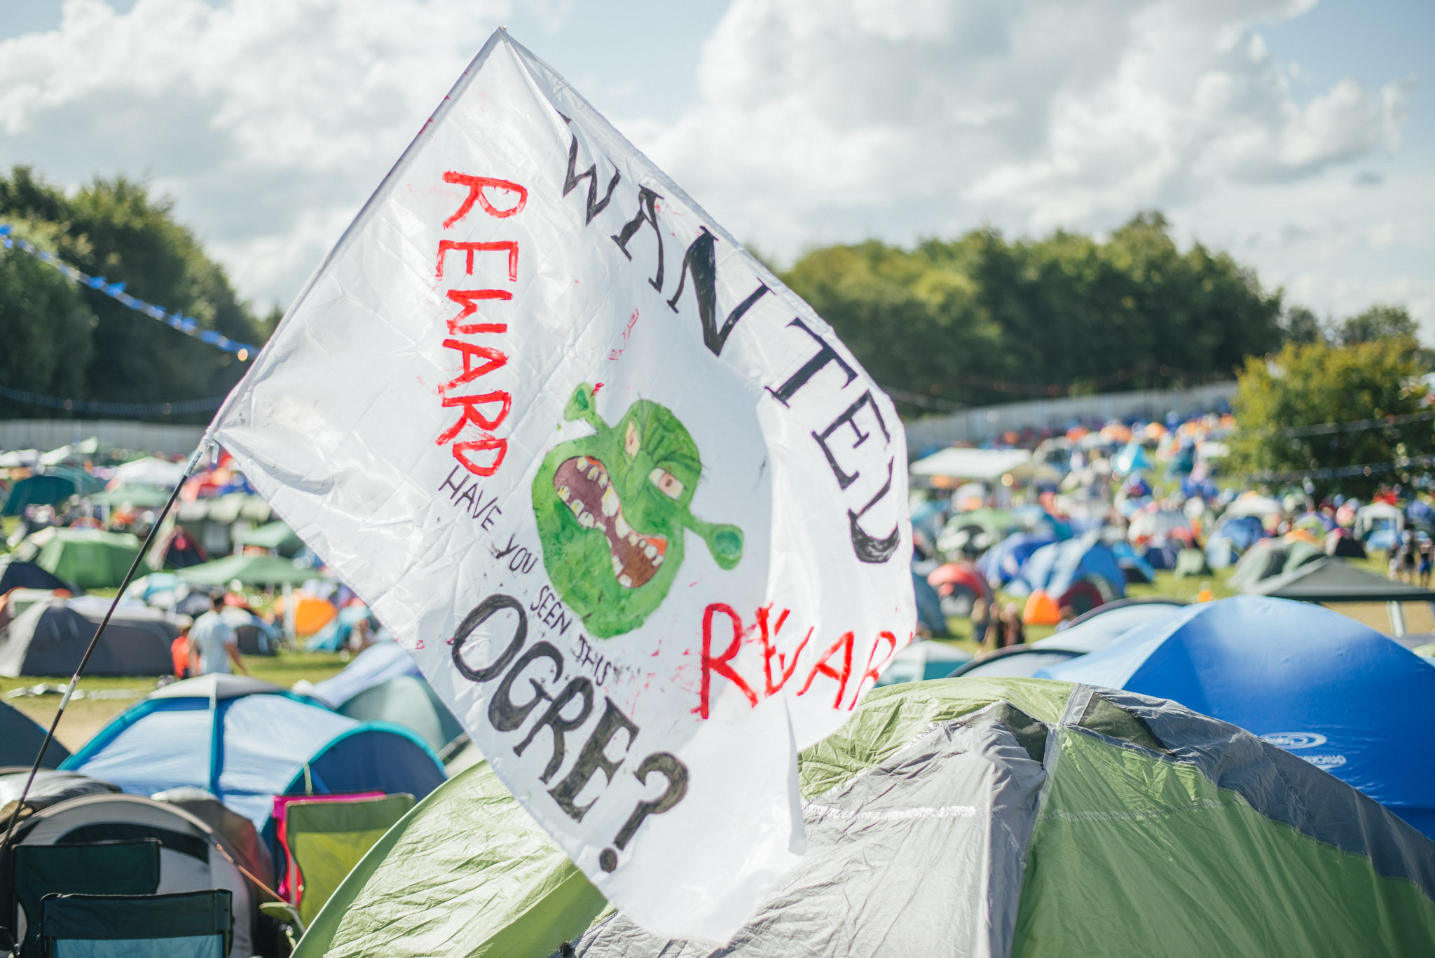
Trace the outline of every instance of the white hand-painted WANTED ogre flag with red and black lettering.
<instances>
[{"instance_id":1,"label":"white hand-painted WANTED ogre flag with red and black lettering","mask_svg":"<svg viewBox=\"0 0 1435 958\"><path fill-rule=\"evenodd\" d=\"M891 402L504 32L212 437L654 932L751 915L916 623Z\"/></svg>"}]
</instances>

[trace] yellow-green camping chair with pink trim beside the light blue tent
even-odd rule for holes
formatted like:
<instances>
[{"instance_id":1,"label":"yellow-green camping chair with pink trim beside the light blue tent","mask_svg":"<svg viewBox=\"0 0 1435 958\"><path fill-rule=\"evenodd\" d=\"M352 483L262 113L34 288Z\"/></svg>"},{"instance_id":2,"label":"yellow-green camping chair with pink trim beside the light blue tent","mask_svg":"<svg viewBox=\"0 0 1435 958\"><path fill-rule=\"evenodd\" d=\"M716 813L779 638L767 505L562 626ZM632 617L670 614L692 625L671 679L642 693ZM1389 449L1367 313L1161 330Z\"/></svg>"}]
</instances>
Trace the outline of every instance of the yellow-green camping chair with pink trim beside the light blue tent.
<instances>
[{"instance_id":1,"label":"yellow-green camping chair with pink trim beside the light blue tent","mask_svg":"<svg viewBox=\"0 0 1435 958\"><path fill-rule=\"evenodd\" d=\"M281 845L291 901L306 926L359 859L412 807L410 794L288 803Z\"/></svg>"}]
</instances>

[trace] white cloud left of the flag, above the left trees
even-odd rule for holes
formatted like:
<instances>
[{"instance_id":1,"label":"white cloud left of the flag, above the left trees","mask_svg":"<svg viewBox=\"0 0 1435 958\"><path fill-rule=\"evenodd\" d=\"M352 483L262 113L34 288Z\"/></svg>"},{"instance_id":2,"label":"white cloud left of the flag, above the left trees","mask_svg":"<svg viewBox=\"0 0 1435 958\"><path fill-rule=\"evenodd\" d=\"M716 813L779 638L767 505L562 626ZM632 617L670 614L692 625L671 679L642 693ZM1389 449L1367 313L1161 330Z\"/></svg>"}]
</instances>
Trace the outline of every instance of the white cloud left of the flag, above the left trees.
<instances>
[{"instance_id":1,"label":"white cloud left of the flag, above the left trees","mask_svg":"<svg viewBox=\"0 0 1435 958\"><path fill-rule=\"evenodd\" d=\"M0 43L0 162L148 177L241 293L287 300L507 0L69 0Z\"/></svg>"}]
</instances>

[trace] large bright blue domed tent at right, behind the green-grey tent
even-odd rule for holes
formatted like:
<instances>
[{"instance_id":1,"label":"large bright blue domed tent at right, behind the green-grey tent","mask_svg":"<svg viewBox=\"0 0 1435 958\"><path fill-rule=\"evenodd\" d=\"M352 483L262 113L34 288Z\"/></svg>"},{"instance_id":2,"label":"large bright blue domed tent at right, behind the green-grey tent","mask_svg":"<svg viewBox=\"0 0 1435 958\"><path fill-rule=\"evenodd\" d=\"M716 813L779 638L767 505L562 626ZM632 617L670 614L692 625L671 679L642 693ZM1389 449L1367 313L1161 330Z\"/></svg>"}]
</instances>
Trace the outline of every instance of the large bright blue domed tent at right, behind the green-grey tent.
<instances>
[{"instance_id":1,"label":"large bright blue domed tent at right, behind the green-grey tent","mask_svg":"<svg viewBox=\"0 0 1435 958\"><path fill-rule=\"evenodd\" d=\"M1435 668L1337 612L1207 602L1038 676L1171 698L1247 728L1435 837Z\"/></svg>"}]
</instances>

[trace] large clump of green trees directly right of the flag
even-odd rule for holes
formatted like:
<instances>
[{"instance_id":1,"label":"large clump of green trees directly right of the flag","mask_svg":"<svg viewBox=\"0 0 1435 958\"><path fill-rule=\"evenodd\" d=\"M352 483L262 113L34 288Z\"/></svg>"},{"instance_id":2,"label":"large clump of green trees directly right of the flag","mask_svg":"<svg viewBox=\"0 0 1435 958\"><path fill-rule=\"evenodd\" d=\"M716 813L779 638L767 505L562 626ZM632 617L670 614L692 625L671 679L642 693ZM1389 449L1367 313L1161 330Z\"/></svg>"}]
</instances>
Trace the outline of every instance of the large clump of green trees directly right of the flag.
<instances>
[{"instance_id":1,"label":"large clump of green trees directly right of the flag","mask_svg":"<svg viewBox=\"0 0 1435 958\"><path fill-rule=\"evenodd\" d=\"M1280 293L1224 253L1180 250L1154 213L1105 241L827 247L784 280L878 382L964 404L1228 378L1281 339Z\"/></svg>"}]
</instances>

